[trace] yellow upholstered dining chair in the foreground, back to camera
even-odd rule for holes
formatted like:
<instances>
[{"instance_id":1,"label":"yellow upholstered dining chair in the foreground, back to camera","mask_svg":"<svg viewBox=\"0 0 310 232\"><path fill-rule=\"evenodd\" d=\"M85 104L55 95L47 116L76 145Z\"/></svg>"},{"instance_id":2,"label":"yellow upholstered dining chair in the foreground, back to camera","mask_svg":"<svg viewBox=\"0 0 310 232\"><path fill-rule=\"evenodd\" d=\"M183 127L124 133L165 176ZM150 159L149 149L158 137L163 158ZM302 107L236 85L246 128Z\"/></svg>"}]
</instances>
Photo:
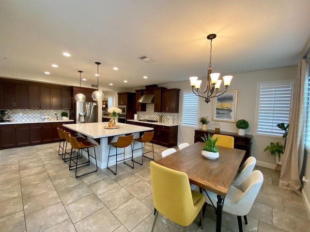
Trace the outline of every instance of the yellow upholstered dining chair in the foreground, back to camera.
<instances>
[{"instance_id":1,"label":"yellow upholstered dining chair in the foreground, back to camera","mask_svg":"<svg viewBox=\"0 0 310 232\"><path fill-rule=\"evenodd\" d=\"M190 225L198 214L202 222L202 205L205 196L190 189L187 174L166 168L154 161L150 162L150 168L153 203L156 209L152 232L158 212L183 226L184 232L186 232L186 226Z\"/></svg>"}]
</instances>

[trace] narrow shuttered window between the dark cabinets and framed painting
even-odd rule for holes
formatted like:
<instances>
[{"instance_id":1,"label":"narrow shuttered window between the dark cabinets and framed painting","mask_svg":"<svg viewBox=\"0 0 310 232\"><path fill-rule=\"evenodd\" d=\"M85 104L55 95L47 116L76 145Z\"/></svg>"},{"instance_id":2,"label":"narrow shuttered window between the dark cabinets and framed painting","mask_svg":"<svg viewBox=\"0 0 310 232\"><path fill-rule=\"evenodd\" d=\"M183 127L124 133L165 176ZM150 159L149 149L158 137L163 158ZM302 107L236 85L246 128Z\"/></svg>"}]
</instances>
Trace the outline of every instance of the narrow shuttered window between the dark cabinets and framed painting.
<instances>
[{"instance_id":1,"label":"narrow shuttered window between the dark cabinets and framed painting","mask_svg":"<svg viewBox=\"0 0 310 232\"><path fill-rule=\"evenodd\" d=\"M182 125L195 126L198 122L198 96L191 90L183 91Z\"/></svg>"}]
</instances>

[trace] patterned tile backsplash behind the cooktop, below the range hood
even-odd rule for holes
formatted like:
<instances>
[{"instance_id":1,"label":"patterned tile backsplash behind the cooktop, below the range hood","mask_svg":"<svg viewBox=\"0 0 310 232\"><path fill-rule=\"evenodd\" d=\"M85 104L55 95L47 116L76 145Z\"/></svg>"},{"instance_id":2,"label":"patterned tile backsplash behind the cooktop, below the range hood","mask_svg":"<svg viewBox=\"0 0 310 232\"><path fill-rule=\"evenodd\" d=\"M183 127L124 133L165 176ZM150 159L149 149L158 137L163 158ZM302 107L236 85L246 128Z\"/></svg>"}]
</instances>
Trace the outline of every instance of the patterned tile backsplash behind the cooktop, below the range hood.
<instances>
[{"instance_id":1,"label":"patterned tile backsplash behind the cooktop, below the range hood","mask_svg":"<svg viewBox=\"0 0 310 232\"><path fill-rule=\"evenodd\" d=\"M147 103L146 111L138 111L137 117L139 119L148 119L148 120L159 120L159 116L162 115L163 123L169 123L169 117L172 117L172 124L178 124L179 114L178 113L163 113L163 112L154 112L154 104Z\"/></svg>"}]
</instances>

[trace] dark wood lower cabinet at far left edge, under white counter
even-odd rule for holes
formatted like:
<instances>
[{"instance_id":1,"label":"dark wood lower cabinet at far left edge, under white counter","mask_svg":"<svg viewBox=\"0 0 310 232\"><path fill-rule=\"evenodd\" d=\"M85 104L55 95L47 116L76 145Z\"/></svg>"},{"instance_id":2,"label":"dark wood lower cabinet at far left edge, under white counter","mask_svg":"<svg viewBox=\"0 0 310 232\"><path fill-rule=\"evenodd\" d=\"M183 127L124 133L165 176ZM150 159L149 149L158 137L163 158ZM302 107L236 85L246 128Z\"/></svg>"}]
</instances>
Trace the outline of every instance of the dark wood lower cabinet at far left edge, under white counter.
<instances>
[{"instance_id":1,"label":"dark wood lower cabinet at far left edge, under white counter","mask_svg":"<svg viewBox=\"0 0 310 232\"><path fill-rule=\"evenodd\" d=\"M29 124L0 125L0 149L30 144Z\"/></svg>"}]
</instances>

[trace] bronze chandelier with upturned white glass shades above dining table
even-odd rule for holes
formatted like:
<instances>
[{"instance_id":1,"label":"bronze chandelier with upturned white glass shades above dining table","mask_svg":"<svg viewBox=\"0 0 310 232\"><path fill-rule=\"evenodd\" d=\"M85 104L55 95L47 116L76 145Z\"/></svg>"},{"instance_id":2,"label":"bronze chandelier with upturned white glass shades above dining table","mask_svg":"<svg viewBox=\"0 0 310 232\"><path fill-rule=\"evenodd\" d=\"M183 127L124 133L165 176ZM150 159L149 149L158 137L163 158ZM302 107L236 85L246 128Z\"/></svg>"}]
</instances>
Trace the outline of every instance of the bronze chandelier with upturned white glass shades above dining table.
<instances>
[{"instance_id":1,"label":"bronze chandelier with upturned white glass shades above dining table","mask_svg":"<svg viewBox=\"0 0 310 232\"><path fill-rule=\"evenodd\" d=\"M211 98L215 98L218 96L221 96L224 94L227 90L227 88L231 84L231 80L233 76L223 76L224 80L224 87L219 90L220 85L222 80L218 80L218 77L220 73L212 73L212 63L211 63L211 58L212 58L212 40L217 37L216 34L210 34L207 36L208 40L211 40L210 43L210 62L209 62L209 67L207 68L208 70L208 76L207 76L207 84L206 87L203 91L200 90L200 86L202 84L202 80L198 80L197 76L192 76L189 77L190 80L190 86L192 87L193 93L196 94L198 97L204 98L204 102L209 103ZM202 94L206 93L205 96Z\"/></svg>"}]
</instances>

